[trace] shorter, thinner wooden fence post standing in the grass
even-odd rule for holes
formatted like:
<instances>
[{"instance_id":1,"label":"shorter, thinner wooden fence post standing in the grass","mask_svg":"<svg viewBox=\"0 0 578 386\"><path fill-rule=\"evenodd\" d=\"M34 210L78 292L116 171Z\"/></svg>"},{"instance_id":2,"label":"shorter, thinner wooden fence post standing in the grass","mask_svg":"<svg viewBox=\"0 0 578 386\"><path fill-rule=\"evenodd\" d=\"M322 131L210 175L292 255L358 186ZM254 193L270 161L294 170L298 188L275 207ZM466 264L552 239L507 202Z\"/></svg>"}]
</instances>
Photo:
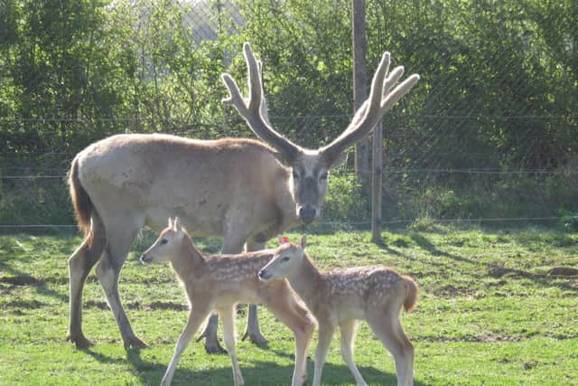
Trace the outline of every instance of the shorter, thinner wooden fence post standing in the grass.
<instances>
[{"instance_id":1,"label":"shorter, thinner wooden fence post standing in the grass","mask_svg":"<svg viewBox=\"0 0 578 386\"><path fill-rule=\"evenodd\" d=\"M383 184L383 125L373 129L373 168L371 178L371 241L381 244L381 188Z\"/></svg>"}]
</instances>

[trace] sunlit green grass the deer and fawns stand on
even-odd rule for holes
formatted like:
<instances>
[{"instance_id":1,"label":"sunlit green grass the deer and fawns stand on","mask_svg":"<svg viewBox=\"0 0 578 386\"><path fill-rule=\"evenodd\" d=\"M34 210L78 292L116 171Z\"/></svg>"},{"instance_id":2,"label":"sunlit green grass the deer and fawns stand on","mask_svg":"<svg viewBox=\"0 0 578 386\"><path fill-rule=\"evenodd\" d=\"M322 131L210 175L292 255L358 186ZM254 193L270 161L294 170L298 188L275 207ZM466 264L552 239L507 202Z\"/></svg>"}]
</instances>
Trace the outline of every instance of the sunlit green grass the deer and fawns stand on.
<instances>
[{"instance_id":1,"label":"sunlit green grass the deer and fawns stand on","mask_svg":"<svg viewBox=\"0 0 578 386\"><path fill-rule=\"evenodd\" d=\"M292 240L298 235L289 234ZM68 328L67 259L78 236L0 236L0 384L158 384L186 320L186 302L166 266L142 266L152 240L135 242L120 291L136 334L151 349L126 351L94 274L85 288L84 331L95 342L76 350ZM321 268L384 264L421 287L404 325L415 344L417 385L578 384L578 234L548 230L483 231L436 228L384 232L387 246L367 232L310 235L308 251ZM271 246L274 244L271 243ZM200 244L208 251L218 241ZM239 310L238 331L245 324ZM247 385L288 384L294 344L289 330L261 308L267 348L238 343ZM314 338L316 339L316 338ZM313 347L316 340L313 341ZM393 358L361 325L355 360L366 381L396 383ZM311 357L313 348L311 350ZM312 379L312 361L309 362ZM334 337L325 384L351 384ZM201 344L183 353L173 384L232 384L226 355Z\"/></svg>"}]
</instances>

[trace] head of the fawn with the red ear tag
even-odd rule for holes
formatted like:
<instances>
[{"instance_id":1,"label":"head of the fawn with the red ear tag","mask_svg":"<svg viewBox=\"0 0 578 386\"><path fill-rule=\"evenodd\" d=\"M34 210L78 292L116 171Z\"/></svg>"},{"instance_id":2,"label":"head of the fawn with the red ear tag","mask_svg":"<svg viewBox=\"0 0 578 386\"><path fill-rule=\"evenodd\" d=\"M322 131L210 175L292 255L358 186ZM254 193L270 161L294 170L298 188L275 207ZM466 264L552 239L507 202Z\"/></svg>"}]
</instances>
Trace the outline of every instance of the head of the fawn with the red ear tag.
<instances>
[{"instance_id":1,"label":"head of the fawn with the red ear tag","mask_svg":"<svg viewBox=\"0 0 578 386\"><path fill-rule=\"evenodd\" d=\"M282 244L275 250L273 259L259 271L259 278L266 281L293 276L305 257L306 243L307 237L303 235L299 244Z\"/></svg>"}]
</instances>

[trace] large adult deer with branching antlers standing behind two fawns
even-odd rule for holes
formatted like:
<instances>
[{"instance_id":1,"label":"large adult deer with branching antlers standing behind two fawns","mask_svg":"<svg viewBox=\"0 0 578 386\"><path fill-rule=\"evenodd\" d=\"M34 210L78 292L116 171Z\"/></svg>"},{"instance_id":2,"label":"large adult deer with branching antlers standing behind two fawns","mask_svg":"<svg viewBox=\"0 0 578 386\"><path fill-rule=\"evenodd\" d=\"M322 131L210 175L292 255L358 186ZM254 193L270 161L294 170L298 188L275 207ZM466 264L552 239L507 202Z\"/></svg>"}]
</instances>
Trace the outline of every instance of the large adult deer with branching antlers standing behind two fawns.
<instances>
[{"instance_id":1,"label":"large adult deer with branching antlers standing behind two fawns","mask_svg":"<svg viewBox=\"0 0 578 386\"><path fill-rule=\"evenodd\" d=\"M248 43L249 99L241 96L230 75L222 79L230 97L263 143L250 139L201 141L164 135L107 137L81 151L70 167L70 196L85 239L70 256L70 340L89 345L82 333L82 291L91 268L103 287L126 346L144 342L132 330L118 294L118 278L138 231L161 231L178 215L194 236L222 236L222 253L262 249L276 234L309 223L321 213L328 171L340 164L343 151L365 137L378 120L419 79L389 75L389 52L381 59L368 99L350 126L316 150L295 145L277 133L266 114L260 63ZM210 318L205 347L219 351L216 317ZM258 331L256 306L249 307L246 335L266 342Z\"/></svg>"}]
</instances>

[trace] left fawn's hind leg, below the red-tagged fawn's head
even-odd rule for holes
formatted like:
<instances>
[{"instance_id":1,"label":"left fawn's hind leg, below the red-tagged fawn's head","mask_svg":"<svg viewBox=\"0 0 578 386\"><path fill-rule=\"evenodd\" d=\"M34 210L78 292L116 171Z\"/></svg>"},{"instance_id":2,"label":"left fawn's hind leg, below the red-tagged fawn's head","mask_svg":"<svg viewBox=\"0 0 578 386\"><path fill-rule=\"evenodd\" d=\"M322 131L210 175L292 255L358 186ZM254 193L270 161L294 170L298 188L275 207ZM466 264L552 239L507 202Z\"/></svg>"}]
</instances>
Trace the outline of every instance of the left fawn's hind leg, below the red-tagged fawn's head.
<instances>
[{"instance_id":1,"label":"left fawn's hind leg, below the red-tagged fawn's head","mask_svg":"<svg viewBox=\"0 0 578 386\"><path fill-rule=\"evenodd\" d=\"M281 323L294 333L295 367L292 385L307 384L307 352L315 328L312 315L295 299L285 281L275 283L275 287L266 287L262 293L262 302Z\"/></svg>"}]
</instances>

